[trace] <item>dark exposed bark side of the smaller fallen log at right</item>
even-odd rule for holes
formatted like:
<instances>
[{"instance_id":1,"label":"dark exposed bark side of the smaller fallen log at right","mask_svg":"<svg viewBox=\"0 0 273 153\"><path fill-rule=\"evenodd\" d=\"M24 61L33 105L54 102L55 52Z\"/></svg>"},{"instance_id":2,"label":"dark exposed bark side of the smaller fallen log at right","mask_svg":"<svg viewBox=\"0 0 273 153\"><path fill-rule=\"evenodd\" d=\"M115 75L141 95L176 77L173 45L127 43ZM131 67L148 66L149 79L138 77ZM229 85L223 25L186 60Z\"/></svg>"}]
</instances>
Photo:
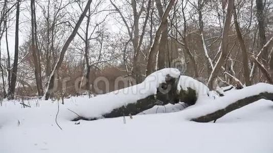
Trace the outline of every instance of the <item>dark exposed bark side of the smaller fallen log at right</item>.
<instances>
[{"instance_id":1,"label":"dark exposed bark side of the smaller fallen log at right","mask_svg":"<svg viewBox=\"0 0 273 153\"><path fill-rule=\"evenodd\" d=\"M243 99L240 99L236 101L235 103L230 104L229 106L219 109L217 111L214 111L210 114L200 116L197 118L193 118L192 121L196 122L210 122L213 120L216 120L222 116L224 116L227 113L230 113L234 110L237 110L239 108L242 108L248 104L254 103L255 101L258 101L260 99L266 99L266 100L272 100L273 101L273 93L263 92L257 95L249 96Z\"/></svg>"}]
</instances>

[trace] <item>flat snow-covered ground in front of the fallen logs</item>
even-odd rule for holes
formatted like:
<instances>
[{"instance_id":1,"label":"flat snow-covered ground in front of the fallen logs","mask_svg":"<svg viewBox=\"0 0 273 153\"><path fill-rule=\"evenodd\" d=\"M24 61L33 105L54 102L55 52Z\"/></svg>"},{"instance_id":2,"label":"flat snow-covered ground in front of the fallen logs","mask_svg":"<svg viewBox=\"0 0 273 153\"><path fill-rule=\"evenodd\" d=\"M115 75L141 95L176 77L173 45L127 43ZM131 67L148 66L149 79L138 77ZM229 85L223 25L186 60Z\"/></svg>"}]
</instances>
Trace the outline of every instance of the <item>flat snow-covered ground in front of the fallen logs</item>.
<instances>
[{"instance_id":1,"label":"flat snow-covered ground in front of the fallen logs","mask_svg":"<svg viewBox=\"0 0 273 153\"><path fill-rule=\"evenodd\" d=\"M87 97L65 99L78 105ZM272 152L273 103L259 100L215 123L185 121L181 112L70 121L59 103L3 101L0 152Z\"/></svg>"}]
</instances>

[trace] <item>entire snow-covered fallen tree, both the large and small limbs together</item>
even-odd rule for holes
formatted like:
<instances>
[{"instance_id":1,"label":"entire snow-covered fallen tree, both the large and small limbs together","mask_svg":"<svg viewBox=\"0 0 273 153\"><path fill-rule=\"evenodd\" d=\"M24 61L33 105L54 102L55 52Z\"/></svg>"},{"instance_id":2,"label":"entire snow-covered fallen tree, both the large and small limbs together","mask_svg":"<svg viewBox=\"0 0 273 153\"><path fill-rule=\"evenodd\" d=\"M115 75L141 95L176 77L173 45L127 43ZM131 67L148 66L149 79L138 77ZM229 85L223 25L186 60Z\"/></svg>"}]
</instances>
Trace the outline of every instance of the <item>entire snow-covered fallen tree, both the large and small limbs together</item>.
<instances>
[{"instance_id":1,"label":"entire snow-covered fallen tree, both the large and small limbs together","mask_svg":"<svg viewBox=\"0 0 273 153\"><path fill-rule=\"evenodd\" d=\"M191 106L179 112L181 118L210 122L260 99L273 100L272 85L259 83L219 97L203 83L166 68L152 73L141 84L91 98L90 103L81 103L70 111L77 114L73 121L96 120L137 115L156 105L181 101Z\"/></svg>"}]
</instances>

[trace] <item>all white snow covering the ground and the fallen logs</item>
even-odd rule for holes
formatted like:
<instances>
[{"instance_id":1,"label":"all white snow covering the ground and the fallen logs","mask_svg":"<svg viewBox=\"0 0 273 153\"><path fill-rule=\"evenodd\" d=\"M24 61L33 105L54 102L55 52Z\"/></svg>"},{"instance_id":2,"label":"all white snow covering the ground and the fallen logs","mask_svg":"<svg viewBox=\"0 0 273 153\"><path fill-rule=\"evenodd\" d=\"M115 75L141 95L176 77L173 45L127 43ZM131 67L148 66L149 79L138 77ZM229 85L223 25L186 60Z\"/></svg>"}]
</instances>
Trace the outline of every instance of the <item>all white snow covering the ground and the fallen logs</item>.
<instances>
[{"instance_id":1,"label":"all white snow covering the ground and the fallen logs","mask_svg":"<svg viewBox=\"0 0 273 153\"><path fill-rule=\"evenodd\" d=\"M216 123L190 121L238 99L261 92L272 93L273 85L265 83L232 90L215 99L208 98L207 89L204 93L200 90L197 105L182 111L178 111L178 104L167 105L164 111L149 114L154 107L150 112L147 110L147 115L135 115L132 119L126 116L126 123L124 117L70 121L77 115L67 108L79 115L99 117L124 105L124 101L133 103L155 93L167 74L179 76L176 69L158 72L142 84L93 98L71 97L64 99L64 105L57 101L25 100L31 108L22 108L19 101L4 100L0 107L0 152L273 152L273 102L270 100L256 101L226 114ZM180 87L187 89L186 84ZM55 123L58 106L57 121L62 130ZM178 112L165 113L172 111Z\"/></svg>"}]
</instances>

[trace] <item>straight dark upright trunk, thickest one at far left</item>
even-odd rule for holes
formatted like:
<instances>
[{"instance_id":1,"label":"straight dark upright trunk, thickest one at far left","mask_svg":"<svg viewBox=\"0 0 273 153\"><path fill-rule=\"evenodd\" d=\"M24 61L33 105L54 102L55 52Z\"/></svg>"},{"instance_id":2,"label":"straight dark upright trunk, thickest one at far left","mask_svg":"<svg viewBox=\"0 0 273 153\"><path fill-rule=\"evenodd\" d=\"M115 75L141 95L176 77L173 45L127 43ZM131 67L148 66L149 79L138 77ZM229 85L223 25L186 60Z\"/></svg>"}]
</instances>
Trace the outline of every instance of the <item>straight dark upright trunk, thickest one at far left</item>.
<instances>
[{"instance_id":1,"label":"straight dark upright trunk, thickest one at far left","mask_svg":"<svg viewBox=\"0 0 273 153\"><path fill-rule=\"evenodd\" d=\"M17 79L17 67L18 67L18 52L19 52L19 15L20 15L20 0L16 2L16 23L15 23L15 47L14 47L14 62L11 74L11 85L9 89L9 99L14 99L16 79Z\"/></svg>"}]
</instances>

